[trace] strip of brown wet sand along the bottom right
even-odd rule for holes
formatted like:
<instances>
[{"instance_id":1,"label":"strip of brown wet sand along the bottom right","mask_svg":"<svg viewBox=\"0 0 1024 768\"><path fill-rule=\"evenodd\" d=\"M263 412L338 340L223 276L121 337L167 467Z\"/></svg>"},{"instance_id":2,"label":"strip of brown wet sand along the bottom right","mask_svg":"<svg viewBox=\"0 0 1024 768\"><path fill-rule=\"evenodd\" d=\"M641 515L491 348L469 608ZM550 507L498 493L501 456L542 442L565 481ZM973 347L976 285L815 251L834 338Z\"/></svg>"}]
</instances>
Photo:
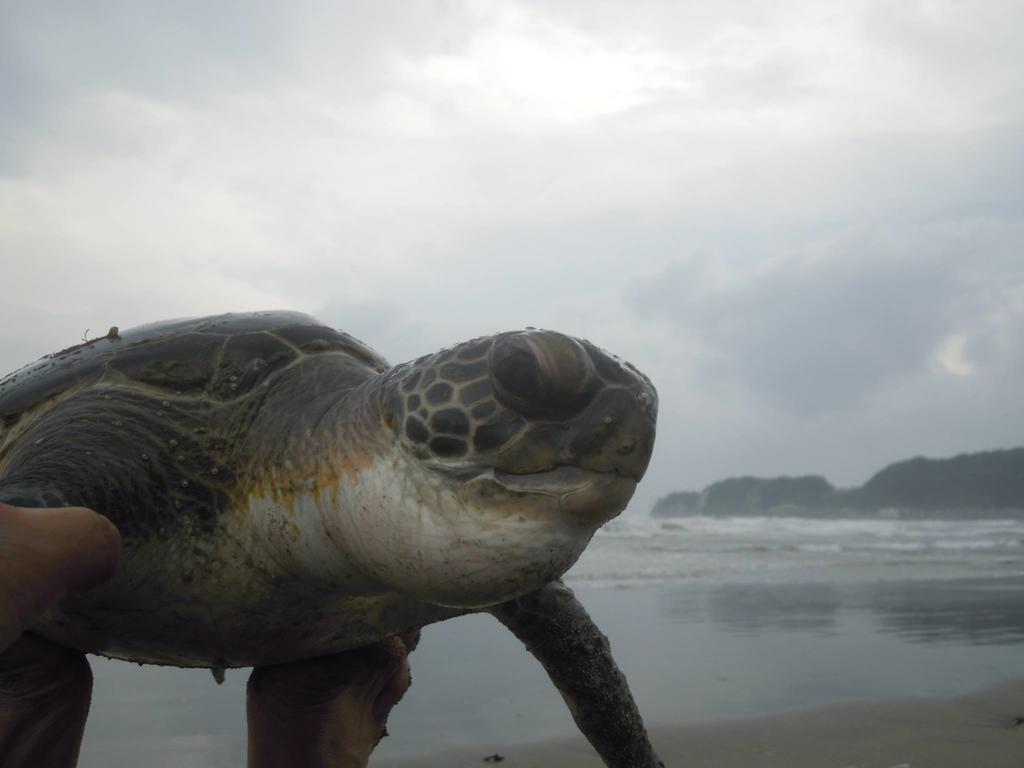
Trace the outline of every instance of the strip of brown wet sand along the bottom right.
<instances>
[{"instance_id":1,"label":"strip of brown wet sand along the bottom right","mask_svg":"<svg viewBox=\"0 0 1024 768\"><path fill-rule=\"evenodd\" d=\"M1024 680L954 698L856 701L763 718L656 725L650 731L669 768L1020 768ZM504 759L484 761L496 754ZM519 745L481 743L372 764L374 768L603 766L582 737Z\"/></svg>"}]
</instances>

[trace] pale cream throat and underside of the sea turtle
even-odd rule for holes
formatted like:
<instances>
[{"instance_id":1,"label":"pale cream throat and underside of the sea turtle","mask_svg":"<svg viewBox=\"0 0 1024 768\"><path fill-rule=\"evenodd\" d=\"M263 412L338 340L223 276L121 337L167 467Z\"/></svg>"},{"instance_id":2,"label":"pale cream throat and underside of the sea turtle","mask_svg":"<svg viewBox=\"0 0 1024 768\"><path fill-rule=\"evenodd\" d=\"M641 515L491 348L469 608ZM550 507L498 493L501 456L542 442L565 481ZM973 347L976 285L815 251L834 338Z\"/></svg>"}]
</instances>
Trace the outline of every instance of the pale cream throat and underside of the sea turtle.
<instances>
[{"instance_id":1,"label":"pale cream throat and underside of the sea turtle","mask_svg":"<svg viewBox=\"0 0 1024 768\"><path fill-rule=\"evenodd\" d=\"M580 482L575 493L604 484ZM253 497L215 536L181 529L126 542L114 581L70 596L36 631L82 650L181 667L324 655L539 589L568 569L596 528L562 509L561 495L505 495L488 505L468 496L381 461L288 505ZM381 519L382 510L392 518Z\"/></svg>"}]
</instances>

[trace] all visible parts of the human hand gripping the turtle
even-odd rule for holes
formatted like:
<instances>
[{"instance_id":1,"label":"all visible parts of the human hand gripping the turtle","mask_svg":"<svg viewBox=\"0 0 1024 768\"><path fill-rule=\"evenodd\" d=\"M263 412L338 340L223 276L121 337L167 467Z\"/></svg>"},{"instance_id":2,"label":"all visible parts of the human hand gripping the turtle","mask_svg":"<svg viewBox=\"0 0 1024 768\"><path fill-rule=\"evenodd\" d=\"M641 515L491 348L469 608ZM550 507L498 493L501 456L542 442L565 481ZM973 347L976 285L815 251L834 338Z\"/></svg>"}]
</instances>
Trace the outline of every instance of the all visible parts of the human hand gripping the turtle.
<instances>
[{"instance_id":1,"label":"all visible parts of the human hand gripping the turtle","mask_svg":"<svg viewBox=\"0 0 1024 768\"><path fill-rule=\"evenodd\" d=\"M84 654L26 633L69 591L110 579L117 528L77 507L0 503L0 765L70 768L78 759L92 674ZM332 656L253 671L249 765L364 768L409 688L418 633Z\"/></svg>"}]
</instances>

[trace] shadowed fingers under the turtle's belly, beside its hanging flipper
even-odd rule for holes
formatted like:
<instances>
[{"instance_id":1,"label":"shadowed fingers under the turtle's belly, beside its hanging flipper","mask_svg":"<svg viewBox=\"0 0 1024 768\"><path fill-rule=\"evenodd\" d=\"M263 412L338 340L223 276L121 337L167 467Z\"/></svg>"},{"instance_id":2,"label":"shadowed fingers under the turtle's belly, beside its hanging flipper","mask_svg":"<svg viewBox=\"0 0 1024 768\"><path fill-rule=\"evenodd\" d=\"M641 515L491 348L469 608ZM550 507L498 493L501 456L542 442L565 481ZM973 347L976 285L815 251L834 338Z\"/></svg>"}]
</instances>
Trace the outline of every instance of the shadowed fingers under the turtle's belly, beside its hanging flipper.
<instances>
[{"instance_id":1,"label":"shadowed fingers under the turtle's belly, beside its hanging flipper","mask_svg":"<svg viewBox=\"0 0 1024 768\"><path fill-rule=\"evenodd\" d=\"M331 656L257 667L246 694L249 768L366 768L409 688L419 633Z\"/></svg>"}]
</instances>

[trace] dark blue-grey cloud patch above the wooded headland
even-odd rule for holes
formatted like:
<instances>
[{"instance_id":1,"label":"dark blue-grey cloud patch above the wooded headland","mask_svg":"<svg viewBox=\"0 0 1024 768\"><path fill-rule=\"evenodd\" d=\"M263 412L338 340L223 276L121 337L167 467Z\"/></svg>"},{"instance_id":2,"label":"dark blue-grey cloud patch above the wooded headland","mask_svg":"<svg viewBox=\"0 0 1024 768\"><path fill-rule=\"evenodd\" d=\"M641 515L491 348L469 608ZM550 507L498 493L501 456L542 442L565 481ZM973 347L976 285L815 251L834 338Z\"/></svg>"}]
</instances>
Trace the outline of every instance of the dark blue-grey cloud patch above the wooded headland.
<instances>
[{"instance_id":1,"label":"dark blue-grey cloud patch above the wooded headland","mask_svg":"<svg viewBox=\"0 0 1024 768\"><path fill-rule=\"evenodd\" d=\"M1022 236L1022 222L975 221L854 231L741 266L693 258L638 283L630 302L685 333L714 378L814 417L864 407L936 361L994 373L1024 344L1024 325L1000 321L1018 311ZM1014 341L975 359L1000 323Z\"/></svg>"}]
</instances>

